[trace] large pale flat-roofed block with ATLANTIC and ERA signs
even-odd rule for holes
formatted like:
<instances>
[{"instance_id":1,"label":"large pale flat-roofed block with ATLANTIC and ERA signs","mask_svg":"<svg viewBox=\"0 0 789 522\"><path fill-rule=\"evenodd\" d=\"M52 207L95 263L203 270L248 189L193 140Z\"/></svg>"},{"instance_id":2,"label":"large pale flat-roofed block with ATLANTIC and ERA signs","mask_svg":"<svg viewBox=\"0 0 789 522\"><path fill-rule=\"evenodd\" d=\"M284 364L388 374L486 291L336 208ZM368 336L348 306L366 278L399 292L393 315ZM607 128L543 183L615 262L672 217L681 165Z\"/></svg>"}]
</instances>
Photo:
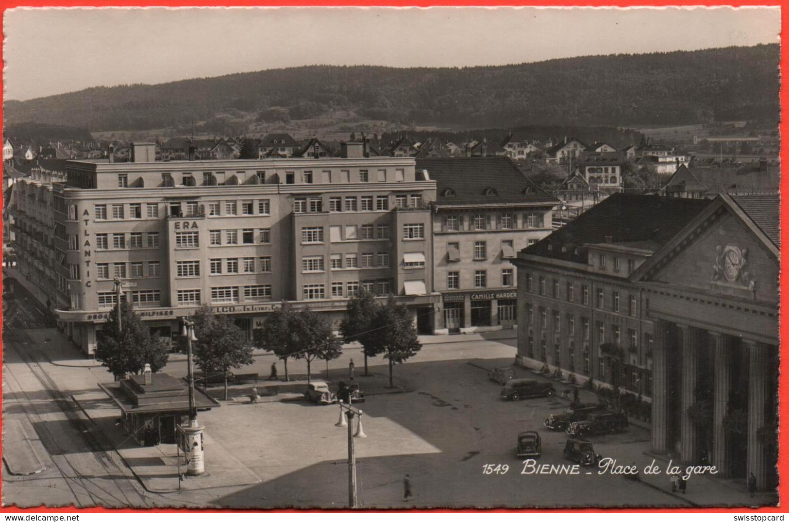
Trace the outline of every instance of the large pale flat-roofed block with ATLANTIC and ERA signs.
<instances>
[{"instance_id":1,"label":"large pale flat-roofed block with ATLANTIC and ERA signs","mask_svg":"<svg viewBox=\"0 0 789 522\"><path fill-rule=\"evenodd\" d=\"M165 337L201 304L248 335L283 300L336 320L362 288L394 294L434 330L436 182L413 158L364 158L347 144L342 158L155 162L152 144L136 144L131 162L67 162L50 190L53 303L87 353L115 278ZM16 226L46 221L30 209L16 206Z\"/></svg>"}]
</instances>

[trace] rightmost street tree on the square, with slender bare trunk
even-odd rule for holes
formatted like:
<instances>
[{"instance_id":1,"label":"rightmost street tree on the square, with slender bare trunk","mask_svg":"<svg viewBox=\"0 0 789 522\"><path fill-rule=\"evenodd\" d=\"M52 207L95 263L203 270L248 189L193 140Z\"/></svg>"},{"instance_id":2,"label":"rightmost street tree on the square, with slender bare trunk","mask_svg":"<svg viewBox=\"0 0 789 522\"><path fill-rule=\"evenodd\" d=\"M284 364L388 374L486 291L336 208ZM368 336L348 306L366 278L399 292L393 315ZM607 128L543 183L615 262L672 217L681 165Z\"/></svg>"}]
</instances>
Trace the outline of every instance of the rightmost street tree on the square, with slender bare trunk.
<instances>
[{"instance_id":1,"label":"rightmost street tree on the square, with slender bare trunk","mask_svg":"<svg viewBox=\"0 0 789 522\"><path fill-rule=\"evenodd\" d=\"M376 337L383 357L389 360L389 386L394 386L393 367L395 363L403 363L422 349L417 337L417 328L403 304L397 304L393 296L389 296L386 304L378 307L376 314Z\"/></svg>"}]
</instances>

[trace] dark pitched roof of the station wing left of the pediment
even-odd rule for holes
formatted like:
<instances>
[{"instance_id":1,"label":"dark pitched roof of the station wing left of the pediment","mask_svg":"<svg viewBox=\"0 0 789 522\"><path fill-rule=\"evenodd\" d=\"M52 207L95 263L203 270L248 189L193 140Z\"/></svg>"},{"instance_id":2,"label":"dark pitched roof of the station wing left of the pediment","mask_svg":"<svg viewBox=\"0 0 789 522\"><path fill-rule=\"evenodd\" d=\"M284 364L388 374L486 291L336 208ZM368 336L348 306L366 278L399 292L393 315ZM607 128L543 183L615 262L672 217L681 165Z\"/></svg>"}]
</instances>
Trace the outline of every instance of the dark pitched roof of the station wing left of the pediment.
<instances>
[{"instance_id":1,"label":"dark pitched roof of the station wing left of the pediment","mask_svg":"<svg viewBox=\"0 0 789 522\"><path fill-rule=\"evenodd\" d=\"M587 244L653 244L659 248L690 223L710 199L616 193L522 252L586 263ZM548 249L549 245L552 246ZM562 252L567 246L567 252ZM578 255L575 249L578 248Z\"/></svg>"}]
</instances>

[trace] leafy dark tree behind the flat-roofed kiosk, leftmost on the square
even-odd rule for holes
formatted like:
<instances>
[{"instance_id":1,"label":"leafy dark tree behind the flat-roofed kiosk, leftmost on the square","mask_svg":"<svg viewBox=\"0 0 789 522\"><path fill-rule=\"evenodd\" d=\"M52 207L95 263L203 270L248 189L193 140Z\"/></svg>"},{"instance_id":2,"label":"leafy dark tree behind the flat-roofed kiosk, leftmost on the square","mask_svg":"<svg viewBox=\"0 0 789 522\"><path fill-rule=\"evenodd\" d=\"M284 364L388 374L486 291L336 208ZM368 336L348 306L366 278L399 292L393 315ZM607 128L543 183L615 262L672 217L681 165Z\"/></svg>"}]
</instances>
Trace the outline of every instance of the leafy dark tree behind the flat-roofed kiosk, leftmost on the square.
<instances>
[{"instance_id":1,"label":"leafy dark tree behind the flat-roofed kiosk, leftmost on the square","mask_svg":"<svg viewBox=\"0 0 789 522\"><path fill-rule=\"evenodd\" d=\"M131 305L121 300L120 307L115 304L107 315L107 323L96 343L95 358L119 379L126 374L142 373L145 364L151 365L151 371L159 371L167 364L169 355L159 334L151 335Z\"/></svg>"}]
</instances>

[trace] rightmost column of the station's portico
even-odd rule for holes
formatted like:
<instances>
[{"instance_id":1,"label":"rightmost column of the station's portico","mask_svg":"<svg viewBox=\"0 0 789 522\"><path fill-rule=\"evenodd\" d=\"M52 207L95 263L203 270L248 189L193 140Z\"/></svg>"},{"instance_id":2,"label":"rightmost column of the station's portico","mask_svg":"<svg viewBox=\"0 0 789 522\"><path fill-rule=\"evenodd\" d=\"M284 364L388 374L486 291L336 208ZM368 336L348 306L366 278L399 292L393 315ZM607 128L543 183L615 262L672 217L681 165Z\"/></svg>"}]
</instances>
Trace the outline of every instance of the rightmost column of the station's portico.
<instances>
[{"instance_id":1,"label":"rightmost column of the station's portico","mask_svg":"<svg viewBox=\"0 0 789 522\"><path fill-rule=\"evenodd\" d=\"M742 339L742 346L748 350L748 476L756 475L757 489L767 486L767 459L765 443L759 436L759 429L765 425L765 402L767 401L768 347Z\"/></svg>"}]
</instances>

